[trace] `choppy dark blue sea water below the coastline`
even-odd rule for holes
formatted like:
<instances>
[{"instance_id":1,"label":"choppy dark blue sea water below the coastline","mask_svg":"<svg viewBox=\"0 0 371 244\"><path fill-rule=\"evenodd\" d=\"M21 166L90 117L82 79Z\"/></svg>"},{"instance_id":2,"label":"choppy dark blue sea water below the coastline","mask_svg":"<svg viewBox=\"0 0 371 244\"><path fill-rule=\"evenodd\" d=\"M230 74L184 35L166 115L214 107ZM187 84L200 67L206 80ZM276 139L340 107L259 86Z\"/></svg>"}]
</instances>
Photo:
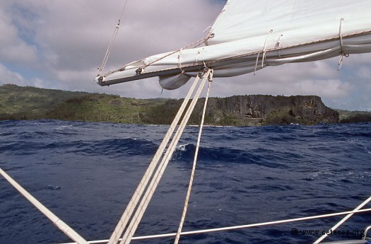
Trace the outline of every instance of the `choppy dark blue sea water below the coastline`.
<instances>
[{"instance_id":1,"label":"choppy dark blue sea water below the coastline","mask_svg":"<svg viewBox=\"0 0 371 244\"><path fill-rule=\"evenodd\" d=\"M187 127L135 236L173 233L198 133ZM0 122L0 166L88 240L110 237L167 126ZM371 123L206 127L184 231L354 209L371 194ZM367 207L371 207L370 204ZM181 243L312 243L341 217L183 236ZM371 214L339 230L360 233ZM360 239L332 235L328 240ZM71 242L0 177L0 243ZM133 243L172 243L173 238Z\"/></svg>"}]
</instances>

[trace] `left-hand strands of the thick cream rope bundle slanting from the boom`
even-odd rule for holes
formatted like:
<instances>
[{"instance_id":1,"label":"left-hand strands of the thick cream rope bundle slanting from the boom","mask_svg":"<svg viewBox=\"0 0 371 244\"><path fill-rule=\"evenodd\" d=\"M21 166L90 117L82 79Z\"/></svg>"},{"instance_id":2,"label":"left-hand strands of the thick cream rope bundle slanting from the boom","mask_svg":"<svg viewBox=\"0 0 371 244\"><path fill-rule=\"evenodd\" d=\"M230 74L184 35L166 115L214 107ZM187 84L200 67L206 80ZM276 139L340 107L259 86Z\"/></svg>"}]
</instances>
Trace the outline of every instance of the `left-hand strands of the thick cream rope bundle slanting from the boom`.
<instances>
[{"instance_id":1,"label":"left-hand strands of the thick cream rope bundle slanting from the boom","mask_svg":"<svg viewBox=\"0 0 371 244\"><path fill-rule=\"evenodd\" d=\"M163 152L165 151L165 148L170 141L170 137L172 136L175 128L177 127L177 124L180 120L180 117L182 117L182 114L184 112L184 109L186 108L189 98L191 97L192 93L194 92L194 88L196 88L197 83L199 83L199 77L197 77L194 80L194 83L192 84L191 88L189 89L189 92L187 93L186 97L184 98L184 101L182 105L179 108L179 111L177 112L177 115L175 115L174 120L172 121L172 124L170 124L169 129L167 130L167 133L164 136L163 141L161 142L158 151L156 151L155 156L153 156L153 159L148 166L146 173L143 175L143 178L141 179L141 182L139 183L138 187L136 188L136 191L133 194L133 197L131 197L131 200L129 204L126 206L126 209L124 213L122 214L122 218L119 220L119 223L117 223L116 228L114 229L114 232L112 233L110 237L110 244L115 244L119 240L119 237L122 236L122 233L124 231L124 228L126 227L130 216L133 215L134 209L138 205L138 202L143 195L144 190L146 189L146 186L148 185L149 180L151 179L151 175L153 175L153 172L155 170L156 165L160 161L160 157L163 155Z\"/></svg>"}]
</instances>

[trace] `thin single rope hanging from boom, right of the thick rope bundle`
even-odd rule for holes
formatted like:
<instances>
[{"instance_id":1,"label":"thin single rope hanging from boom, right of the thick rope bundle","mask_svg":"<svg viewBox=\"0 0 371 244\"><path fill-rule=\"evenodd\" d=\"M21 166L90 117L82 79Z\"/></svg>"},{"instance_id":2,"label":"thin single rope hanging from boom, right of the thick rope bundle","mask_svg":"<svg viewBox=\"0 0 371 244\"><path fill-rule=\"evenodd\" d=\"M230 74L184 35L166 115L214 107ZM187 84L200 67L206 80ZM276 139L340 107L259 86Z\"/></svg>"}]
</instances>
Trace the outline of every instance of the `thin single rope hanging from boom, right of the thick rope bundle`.
<instances>
[{"instance_id":1,"label":"thin single rope hanging from boom, right of the thick rope bundle","mask_svg":"<svg viewBox=\"0 0 371 244\"><path fill-rule=\"evenodd\" d=\"M211 86L212 80L213 80L213 70L211 70L210 77L208 77L208 88L207 88L207 93L206 93L206 98L205 98L205 103L204 103L204 111L202 112L202 117L201 117L201 124L200 124L200 129L199 129L199 137L197 138L196 151L194 153L194 161L193 161L191 178L189 179L187 195L186 195L186 199L184 201L184 208L183 208L183 212L182 212L182 219L180 220L180 223L179 223L179 228L178 228L178 231L177 231L177 236L175 237L174 244L179 243L180 233L182 233L184 220L185 220L185 217L187 215L188 202L189 202L189 197L191 196L191 190L192 190L192 185L193 185L193 180L194 180L194 173L196 171L197 156L199 154L202 128L204 127L206 105L207 105L207 102L208 102L208 94L210 93L210 86Z\"/></svg>"}]
</instances>

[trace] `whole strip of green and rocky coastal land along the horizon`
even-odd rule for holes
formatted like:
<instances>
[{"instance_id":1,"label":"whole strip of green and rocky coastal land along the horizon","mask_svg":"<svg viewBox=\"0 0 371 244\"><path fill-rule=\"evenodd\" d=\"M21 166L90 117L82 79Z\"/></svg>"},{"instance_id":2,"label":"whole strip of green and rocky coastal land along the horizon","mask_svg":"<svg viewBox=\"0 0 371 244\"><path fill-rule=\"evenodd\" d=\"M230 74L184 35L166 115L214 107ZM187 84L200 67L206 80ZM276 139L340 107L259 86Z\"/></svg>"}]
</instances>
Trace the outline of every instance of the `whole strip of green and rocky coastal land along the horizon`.
<instances>
[{"instance_id":1,"label":"whole strip of green and rocky coastal land along the horizon","mask_svg":"<svg viewBox=\"0 0 371 244\"><path fill-rule=\"evenodd\" d=\"M0 120L73 120L170 124L182 99L136 99L119 95L60 91L11 84L0 86ZM189 124L199 124L204 98ZM205 124L264 125L371 121L370 112L327 108L317 96L235 95L210 98Z\"/></svg>"}]
</instances>

